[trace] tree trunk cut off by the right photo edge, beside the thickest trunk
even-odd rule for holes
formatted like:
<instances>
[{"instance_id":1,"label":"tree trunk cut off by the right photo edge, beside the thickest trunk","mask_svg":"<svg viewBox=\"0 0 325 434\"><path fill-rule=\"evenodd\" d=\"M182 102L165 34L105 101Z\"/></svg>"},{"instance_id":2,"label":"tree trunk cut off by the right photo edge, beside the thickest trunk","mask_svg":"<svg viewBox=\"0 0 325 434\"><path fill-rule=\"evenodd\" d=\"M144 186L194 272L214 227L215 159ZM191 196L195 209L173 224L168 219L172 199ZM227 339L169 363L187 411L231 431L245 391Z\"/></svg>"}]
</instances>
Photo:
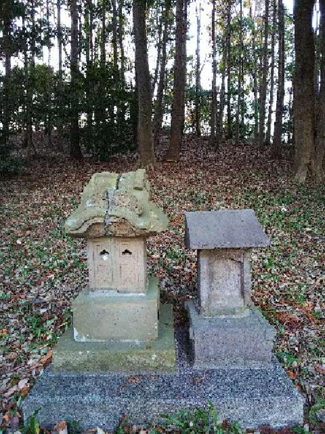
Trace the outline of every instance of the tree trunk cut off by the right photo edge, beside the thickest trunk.
<instances>
[{"instance_id":1,"label":"tree trunk cut off by the right photo edge, beside the thickest trunk","mask_svg":"<svg viewBox=\"0 0 325 434\"><path fill-rule=\"evenodd\" d=\"M318 96L318 116L316 123L315 153L311 165L312 176L316 182L323 180L325 158L325 0L319 0L320 7L320 88Z\"/></svg>"}]
</instances>

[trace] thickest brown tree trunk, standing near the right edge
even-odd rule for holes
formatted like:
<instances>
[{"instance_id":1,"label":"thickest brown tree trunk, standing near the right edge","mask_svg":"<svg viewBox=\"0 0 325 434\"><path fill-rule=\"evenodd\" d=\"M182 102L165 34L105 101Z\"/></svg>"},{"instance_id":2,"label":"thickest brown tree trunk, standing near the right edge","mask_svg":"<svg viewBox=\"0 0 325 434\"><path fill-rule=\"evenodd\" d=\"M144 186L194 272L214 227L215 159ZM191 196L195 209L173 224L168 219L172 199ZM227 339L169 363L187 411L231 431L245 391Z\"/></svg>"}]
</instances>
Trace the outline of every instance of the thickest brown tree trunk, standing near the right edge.
<instances>
[{"instance_id":1,"label":"thickest brown tree trunk, standing near the right edge","mask_svg":"<svg viewBox=\"0 0 325 434\"><path fill-rule=\"evenodd\" d=\"M312 27L314 0L296 0L295 52L296 75L294 94L295 166L296 181L304 183L314 151L315 99L314 63L315 44Z\"/></svg>"}]
</instances>

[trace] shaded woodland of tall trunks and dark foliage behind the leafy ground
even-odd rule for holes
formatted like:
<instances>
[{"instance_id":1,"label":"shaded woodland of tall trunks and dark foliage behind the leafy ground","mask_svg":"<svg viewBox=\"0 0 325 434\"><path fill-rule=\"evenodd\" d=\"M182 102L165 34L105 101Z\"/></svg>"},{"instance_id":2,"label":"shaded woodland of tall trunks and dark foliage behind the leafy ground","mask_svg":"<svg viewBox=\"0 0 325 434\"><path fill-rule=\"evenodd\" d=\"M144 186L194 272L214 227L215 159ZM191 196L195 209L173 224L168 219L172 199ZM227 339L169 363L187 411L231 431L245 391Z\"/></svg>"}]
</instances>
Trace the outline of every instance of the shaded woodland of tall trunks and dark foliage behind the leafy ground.
<instances>
[{"instance_id":1,"label":"shaded woodland of tall trunks and dark foliage behind the leafy ground","mask_svg":"<svg viewBox=\"0 0 325 434\"><path fill-rule=\"evenodd\" d=\"M183 134L205 135L215 149L227 140L272 147L275 158L288 150L297 181L309 174L321 181L324 0L296 0L294 17L283 0L196 0L195 58L186 50L194 43L192 3L3 1L2 171L21 163L17 151L27 163L36 156L40 136L48 149L68 144L73 158L105 160L138 149L141 165L152 165L165 129L168 160L178 159ZM204 27L203 8L210 16ZM201 85L204 32L211 45L209 89Z\"/></svg>"}]
</instances>

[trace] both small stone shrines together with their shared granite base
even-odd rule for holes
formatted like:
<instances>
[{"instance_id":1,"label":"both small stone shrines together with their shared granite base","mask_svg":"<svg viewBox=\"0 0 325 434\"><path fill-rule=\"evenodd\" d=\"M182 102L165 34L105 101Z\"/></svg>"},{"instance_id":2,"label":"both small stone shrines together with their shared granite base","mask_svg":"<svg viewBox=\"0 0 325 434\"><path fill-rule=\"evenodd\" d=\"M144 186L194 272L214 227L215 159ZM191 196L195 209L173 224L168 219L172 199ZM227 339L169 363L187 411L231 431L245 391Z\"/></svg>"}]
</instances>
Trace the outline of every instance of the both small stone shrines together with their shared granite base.
<instances>
[{"instance_id":1,"label":"both small stone shrines together with their shared granite base","mask_svg":"<svg viewBox=\"0 0 325 434\"><path fill-rule=\"evenodd\" d=\"M198 302L173 327L147 275L146 237L168 220L150 200L144 170L96 173L66 222L87 239L89 285L73 302L73 326L23 401L41 426L73 419L83 429L161 423L161 414L206 408L246 428L303 421L304 399L272 356L274 328L252 305L250 250L266 247L252 210L185 215L198 250ZM175 336L175 337L174 337ZM175 345L176 341L176 345ZM176 354L175 354L176 353Z\"/></svg>"}]
</instances>

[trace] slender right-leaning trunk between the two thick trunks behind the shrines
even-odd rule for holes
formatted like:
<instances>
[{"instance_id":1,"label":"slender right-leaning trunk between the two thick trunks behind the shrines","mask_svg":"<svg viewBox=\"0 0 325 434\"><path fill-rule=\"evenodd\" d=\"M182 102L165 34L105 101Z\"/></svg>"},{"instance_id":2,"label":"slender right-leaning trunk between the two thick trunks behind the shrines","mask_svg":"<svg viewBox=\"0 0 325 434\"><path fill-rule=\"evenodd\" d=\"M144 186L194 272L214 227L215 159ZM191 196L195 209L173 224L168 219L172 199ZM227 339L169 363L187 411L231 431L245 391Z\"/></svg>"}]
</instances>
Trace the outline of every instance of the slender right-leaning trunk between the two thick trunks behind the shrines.
<instances>
[{"instance_id":1,"label":"slender right-leaning trunk between the two thick trunks behind the shrines","mask_svg":"<svg viewBox=\"0 0 325 434\"><path fill-rule=\"evenodd\" d=\"M163 43L161 46L161 62L160 62L160 72L159 72L159 82L157 89L157 98L155 102L155 110L153 117L153 133L154 133L154 147L157 148L159 144L159 134L161 131L161 126L163 124L163 98L165 89L165 79L166 79L166 60L167 60L167 39L169 30L169 8L163 12L164 17L164 32L163 32Z\"/></svg>"}]
</instances>

